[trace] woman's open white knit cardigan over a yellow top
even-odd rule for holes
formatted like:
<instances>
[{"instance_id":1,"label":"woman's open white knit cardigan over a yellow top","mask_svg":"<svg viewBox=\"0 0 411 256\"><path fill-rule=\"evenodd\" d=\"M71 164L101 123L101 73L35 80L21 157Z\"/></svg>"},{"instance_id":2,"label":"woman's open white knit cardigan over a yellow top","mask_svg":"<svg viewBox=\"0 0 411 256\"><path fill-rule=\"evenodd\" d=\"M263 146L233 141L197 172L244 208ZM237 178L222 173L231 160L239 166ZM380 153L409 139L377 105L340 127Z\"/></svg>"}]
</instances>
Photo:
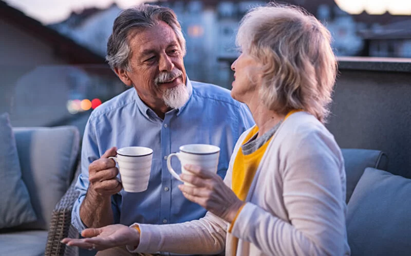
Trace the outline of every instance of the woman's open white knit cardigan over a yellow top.
<instances>
[{"instance_id":1,"label":"woman's open white knit cardigan over a yellow top","mask_svg":"<svg viewBox=\"0 0 411 256\"><path fill-rule=\"evenodd\" d=\"M251 130L251 129L250 129ZM231 157L225 183L231 187ZM232 233L210 212L170 225L138 224L140 244L130 252L233 255L349 255L345 226L345 171L338 144L305 112L292 114L271 140Z\"/></svg>"}]
</instances>

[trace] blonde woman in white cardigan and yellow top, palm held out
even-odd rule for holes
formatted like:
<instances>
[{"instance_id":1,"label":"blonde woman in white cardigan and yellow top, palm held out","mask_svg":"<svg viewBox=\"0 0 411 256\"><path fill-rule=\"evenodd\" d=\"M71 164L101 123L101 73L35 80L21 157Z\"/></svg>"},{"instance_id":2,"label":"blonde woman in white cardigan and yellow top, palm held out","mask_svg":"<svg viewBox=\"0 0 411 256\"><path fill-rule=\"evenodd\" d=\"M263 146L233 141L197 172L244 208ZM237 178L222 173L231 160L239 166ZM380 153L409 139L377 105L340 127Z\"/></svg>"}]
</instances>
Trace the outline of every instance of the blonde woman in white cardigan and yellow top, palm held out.
<instances>
[{"instance_id":1,"label":"blonde woman in white cardigan and yellow top, palm held out","mask_svg":"<svg viewBox=\"0 0 411 256\"><path fill-rule=\"evenodd\" d=\"M225 180L197 166L180 185L208 210L171 225L86 229L63 243L130 252L226 255L348 255L345 172L323 122L335 81L330 34L295 7L251 10L241 21L231 95L256 125L241 135Z\"/></svg>"}]
</instances>

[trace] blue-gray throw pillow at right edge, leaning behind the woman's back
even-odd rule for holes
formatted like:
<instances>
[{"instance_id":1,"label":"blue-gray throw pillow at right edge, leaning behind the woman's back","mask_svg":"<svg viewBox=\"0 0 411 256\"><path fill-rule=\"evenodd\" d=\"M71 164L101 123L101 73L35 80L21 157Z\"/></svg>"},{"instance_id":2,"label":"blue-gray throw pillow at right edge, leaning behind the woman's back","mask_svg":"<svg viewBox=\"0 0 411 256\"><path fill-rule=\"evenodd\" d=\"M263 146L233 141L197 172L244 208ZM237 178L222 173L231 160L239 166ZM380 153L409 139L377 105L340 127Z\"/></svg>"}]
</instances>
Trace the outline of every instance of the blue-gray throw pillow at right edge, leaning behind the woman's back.
<instances>
[{"instance_id":1,"label":"blue-gray throw pillow at right edge, leaning behind the woman's back","mask_svg":"<svg viewBox=\"0 0 411 256\"><path fill-rule=\"evenodd\" d=\"M411 179L367 168L347 207L352 255L411 254Z\"/></svg>"}]
</instances>

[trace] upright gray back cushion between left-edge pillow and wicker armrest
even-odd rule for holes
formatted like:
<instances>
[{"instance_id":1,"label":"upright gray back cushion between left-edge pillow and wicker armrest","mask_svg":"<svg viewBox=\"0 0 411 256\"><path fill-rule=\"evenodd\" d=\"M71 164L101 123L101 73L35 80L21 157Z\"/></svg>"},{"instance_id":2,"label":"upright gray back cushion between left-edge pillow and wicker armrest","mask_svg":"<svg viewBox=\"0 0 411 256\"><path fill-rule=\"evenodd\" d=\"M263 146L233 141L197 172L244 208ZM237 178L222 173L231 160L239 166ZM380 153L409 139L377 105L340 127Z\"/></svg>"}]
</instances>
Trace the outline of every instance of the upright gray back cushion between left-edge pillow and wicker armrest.
<instances>
[{"instance_id":1,"label":"upright gray back cushion between left-edge pillow and wicker armrest","mask_svg":"<svg viewBox=\"0 0 411 256\"><path fill-rule=\"evenodd\" d=\"M74 175L80 137L77 127L14 129L23 180L38 217L24 229L48 229L54 206Z\"/></svg>"}]
</instances>

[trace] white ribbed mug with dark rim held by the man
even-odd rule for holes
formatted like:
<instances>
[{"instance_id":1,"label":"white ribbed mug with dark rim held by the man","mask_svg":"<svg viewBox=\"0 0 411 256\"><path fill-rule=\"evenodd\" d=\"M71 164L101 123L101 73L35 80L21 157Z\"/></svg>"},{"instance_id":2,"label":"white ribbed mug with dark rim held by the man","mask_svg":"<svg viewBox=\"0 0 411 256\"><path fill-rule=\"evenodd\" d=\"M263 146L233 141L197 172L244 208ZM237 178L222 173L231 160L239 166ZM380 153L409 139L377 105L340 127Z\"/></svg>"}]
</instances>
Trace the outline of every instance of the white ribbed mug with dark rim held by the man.
<instances>
[{"instance_id":1,"label":"white ribbed mug with dark rim held by the man","mask_svg":"<svg viewBox=\"0 0 411 256\"><path fill-rule=\"evenodd\" d=\"M127 192L142 192L150 180L153 150L143 146L128 146L117 150L117 156L109 157L119 166L120 182Z\"/></svg>"}]
</instances>

